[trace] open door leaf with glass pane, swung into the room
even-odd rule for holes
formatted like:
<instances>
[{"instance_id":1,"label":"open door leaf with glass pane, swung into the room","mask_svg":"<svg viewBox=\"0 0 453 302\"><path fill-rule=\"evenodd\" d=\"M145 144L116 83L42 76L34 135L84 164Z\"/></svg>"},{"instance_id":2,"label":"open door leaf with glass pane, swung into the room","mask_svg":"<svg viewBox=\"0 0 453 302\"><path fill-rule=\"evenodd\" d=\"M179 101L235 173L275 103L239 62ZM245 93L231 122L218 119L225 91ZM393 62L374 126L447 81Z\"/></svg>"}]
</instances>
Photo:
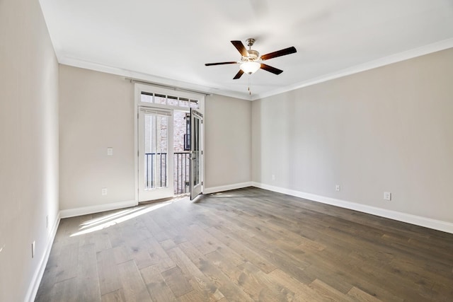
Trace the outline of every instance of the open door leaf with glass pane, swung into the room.
<instances>
[{"instance_id":1,"label":"open door leaf with glass pane, swung into the room","mask_svg":"<svg viewBox=\"0 0 453 302\"><path fill-rule=\"evenodd\" d=\"M202 193L203 186L203 115L190 109L190 199Z\"/></svg>"}]
</instances>

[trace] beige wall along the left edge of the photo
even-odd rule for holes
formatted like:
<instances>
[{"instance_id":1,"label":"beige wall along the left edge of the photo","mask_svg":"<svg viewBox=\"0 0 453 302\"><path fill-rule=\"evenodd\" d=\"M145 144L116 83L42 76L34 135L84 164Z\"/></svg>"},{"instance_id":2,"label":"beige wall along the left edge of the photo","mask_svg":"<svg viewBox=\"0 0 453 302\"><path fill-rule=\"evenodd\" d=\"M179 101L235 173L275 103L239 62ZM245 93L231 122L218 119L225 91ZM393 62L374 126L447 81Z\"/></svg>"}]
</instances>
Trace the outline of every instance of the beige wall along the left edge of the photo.
<instances>
[{"instance_id":1,"label":"beige wall along the left edge of the photo","mask_svg":"<svg viewBox=\"0 0 453 302\"><path fill-rule=\"evenodd\" d=\"M24 301L58 214L58 64L37 0L0 1L0 142L0 301Z\"/></svg>"}]
</instances>

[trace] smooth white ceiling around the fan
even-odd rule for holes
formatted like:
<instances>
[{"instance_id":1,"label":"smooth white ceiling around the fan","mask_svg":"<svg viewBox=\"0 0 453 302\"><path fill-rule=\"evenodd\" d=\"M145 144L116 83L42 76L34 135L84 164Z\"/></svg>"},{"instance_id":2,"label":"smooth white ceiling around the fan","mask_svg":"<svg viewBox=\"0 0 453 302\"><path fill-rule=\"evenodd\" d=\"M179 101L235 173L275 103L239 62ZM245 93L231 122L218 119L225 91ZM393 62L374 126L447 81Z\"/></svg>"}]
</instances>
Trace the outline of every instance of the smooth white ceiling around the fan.
<instances>
[{"instance_id":1,"label":"smooth white ceiling around the fan","mask_svg":"<svg viewBox=\"0 0 453 302\"><path fill-rule=\"evenodd\" d=\"M40 0L60 63L256 99L453 47L453 0ZM233 80L231 40L297 53ZM248 93L250 81L251 93Z\"/></svg>"}]
</instances>

